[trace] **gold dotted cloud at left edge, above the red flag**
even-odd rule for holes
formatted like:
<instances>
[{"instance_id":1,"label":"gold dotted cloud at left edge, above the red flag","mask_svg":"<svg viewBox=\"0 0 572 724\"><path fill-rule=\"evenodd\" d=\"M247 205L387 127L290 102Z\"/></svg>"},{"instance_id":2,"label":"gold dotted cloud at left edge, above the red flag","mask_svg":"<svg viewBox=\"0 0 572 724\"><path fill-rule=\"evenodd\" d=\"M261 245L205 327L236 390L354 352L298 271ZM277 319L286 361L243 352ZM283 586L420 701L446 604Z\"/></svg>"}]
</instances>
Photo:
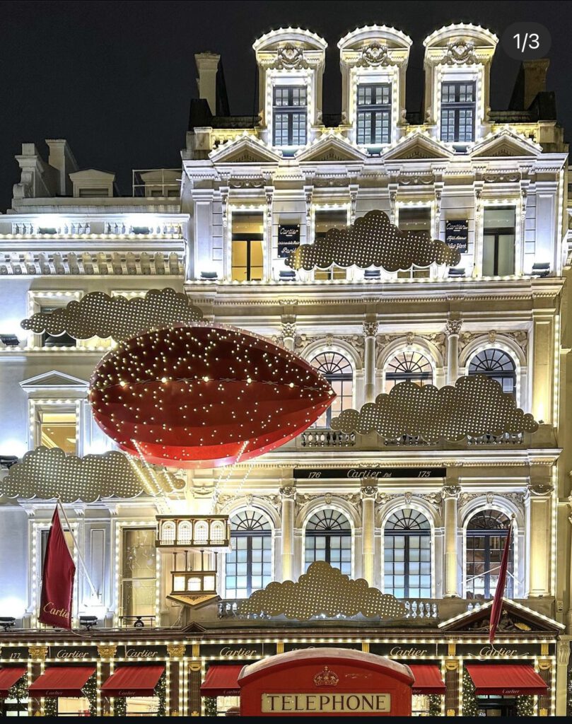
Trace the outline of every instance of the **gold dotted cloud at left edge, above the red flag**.
<instances>
[{"instance_id":1,"label":"gold dotted cloud at left edge, above the red flag","mask_svg":"<svg viewBox=\"0 0 572 724\"><path fill-rule=\"evenodd\" d=\"M144 468L117 450L78 458L66 455L59 447L37 447L27 452L21 463L9 468L0 481L0 494L27 500L61 497L63 502L94 502L112 495L157 495L184 486L184 481L159 468Z\"/></svg>"}]
</instances>

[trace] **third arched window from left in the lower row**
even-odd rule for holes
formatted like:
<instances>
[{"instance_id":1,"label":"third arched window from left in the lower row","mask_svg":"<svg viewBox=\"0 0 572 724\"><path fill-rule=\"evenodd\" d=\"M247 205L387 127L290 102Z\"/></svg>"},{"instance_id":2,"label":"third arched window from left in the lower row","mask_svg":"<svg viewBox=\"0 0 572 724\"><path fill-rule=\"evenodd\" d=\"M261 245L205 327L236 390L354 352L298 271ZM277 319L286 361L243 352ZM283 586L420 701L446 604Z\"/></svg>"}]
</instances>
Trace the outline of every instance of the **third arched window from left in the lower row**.
<instances>
[{"instance_id":1,"label":"third arched window from left in the lower row","mask_svg":"<svg viewBox=\"0 0 572 724\"><path fill-rule=\"evenodd\" d=\"M390 515L384 531L384 592L431 598L431 526L419 510Z\"/></svg>"}]
</instances>

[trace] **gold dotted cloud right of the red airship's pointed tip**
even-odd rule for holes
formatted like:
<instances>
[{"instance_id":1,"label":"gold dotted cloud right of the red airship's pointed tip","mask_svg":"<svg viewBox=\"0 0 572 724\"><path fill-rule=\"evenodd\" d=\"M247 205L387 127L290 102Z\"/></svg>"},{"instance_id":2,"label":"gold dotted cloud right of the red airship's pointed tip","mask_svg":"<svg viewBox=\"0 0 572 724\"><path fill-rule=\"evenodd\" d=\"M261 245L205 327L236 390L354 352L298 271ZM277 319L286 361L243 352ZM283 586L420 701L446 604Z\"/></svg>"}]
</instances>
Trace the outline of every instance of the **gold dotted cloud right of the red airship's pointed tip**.
<instances>
[{"instance_id":1,"label":"gold dotted cloud right of the red airship's pointed tip","mask_svg":"<svg viewBox=\"0 0 572 724\"><path fill-rule=\"evenodd\" d=\"M538 424L530 413L525 415L516 407L513 396L502 392L498 382L479 375L461 377L455 387L440 390L432 384L419 387L400 382L360 411L342 411L332 420L332 429L360 434L377 431L390 439L420 435L434 443L469 435L535 432Z\"/></svg>"}]
</instances>

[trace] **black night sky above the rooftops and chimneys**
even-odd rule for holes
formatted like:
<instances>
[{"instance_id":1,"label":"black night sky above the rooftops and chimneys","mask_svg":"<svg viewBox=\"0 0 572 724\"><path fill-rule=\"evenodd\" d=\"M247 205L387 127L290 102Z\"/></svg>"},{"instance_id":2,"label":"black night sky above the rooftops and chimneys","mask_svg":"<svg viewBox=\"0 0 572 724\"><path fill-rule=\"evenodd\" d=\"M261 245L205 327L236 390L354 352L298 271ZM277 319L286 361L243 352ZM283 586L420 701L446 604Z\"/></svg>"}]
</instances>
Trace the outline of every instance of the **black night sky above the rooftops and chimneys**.
<instances>
[{"instance_id":1,"label":"black night sky above the rooftops and chimneys","mask_svg":"<svg viewBox=\"0 0 572 724\"><path fill-rule=\"evenodd\" d=\"M548 90L572 127L572 3L345 2L240 0L187 2L0 3L0 209L19 180L22 142L45 152L45 138L67 138L80 168L118 174L130 193L131 169L177 167L189 99L196 95L193 54L222 54L232 114L251 114L252 43L280 26L314 30L329 43L324 112L340 108L337 41L360 25L392 25L413 39L407 106L421 104L423 39L450 22L474 22L499 37L516 21L542 22L552 35ZM492 108L505 108L518 62L497 47Z\"/></svg>"}]
</instances>

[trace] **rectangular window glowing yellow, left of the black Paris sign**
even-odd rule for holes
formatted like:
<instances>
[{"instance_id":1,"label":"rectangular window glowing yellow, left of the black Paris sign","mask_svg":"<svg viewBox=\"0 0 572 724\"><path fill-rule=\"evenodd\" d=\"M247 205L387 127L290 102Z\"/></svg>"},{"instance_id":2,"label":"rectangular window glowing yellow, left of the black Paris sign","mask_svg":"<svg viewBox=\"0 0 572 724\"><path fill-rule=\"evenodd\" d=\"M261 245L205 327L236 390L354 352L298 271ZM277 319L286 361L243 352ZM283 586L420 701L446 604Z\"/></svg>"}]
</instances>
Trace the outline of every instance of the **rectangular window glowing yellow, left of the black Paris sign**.
<instances>
[{"instance_id":1,"label":"rectangular window glowing yellow, left of the black Paris sign","mask_svg":"<svg viewBox=\"0 0 572 724\"><path fill-rule=\"evenodd\" d=\"M264 276L264 216L232 214L232 280L260 282Z\"/></svg>"}]
</instances>

